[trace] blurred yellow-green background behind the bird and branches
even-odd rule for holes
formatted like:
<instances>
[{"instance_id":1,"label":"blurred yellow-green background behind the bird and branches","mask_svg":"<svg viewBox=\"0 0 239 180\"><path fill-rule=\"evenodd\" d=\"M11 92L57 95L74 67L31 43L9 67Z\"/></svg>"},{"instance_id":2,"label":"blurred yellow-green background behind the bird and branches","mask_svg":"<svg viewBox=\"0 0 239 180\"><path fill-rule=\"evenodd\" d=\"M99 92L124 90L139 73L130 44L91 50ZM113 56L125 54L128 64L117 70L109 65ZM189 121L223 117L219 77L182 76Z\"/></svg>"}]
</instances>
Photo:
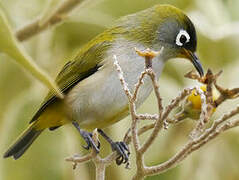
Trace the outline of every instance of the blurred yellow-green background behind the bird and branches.
<instances>
[{"instance_id":1,"label":"blurred yellow-green background behind the bird and branches","mask_svg":"<svg viewBox=\"0 0 239 180\"><path fill-rule=\"evenodd\" d=\"M48 0L2 0L11 27L14 30L41 16ZM61 0L55 0L61 3ZM88 0L78 6L61 24L23 42L36 63L55 77L77 49L102 32L120 16L134 13L158 3L172 4L183 9L194 22L198 31L198 54L205 69L223 70L219 84L239 87L239 1L238 0ZM0 37L1 41L1 37ZM185 60L167 63L159 80L163 103L176 96L184 87L195 82L183 75L192 65ZM28 125L34 112L47 93L47 89L28 75L7 56L0 54L0 155ZM239 101L230 101L218 108L215 118L229 111ZM153 94L139 112L156 113ZM146 154L146 163L154 165L167 160L188 138L195 122L170 127L162 131L157 142ZM115 140L122 140L130 125L129 118L107 128ZM193 153L180 166L148 180L236 180L239 179L239 129L221 135ZM147 135L147 134L146 134ZM65 126L54 132L45 131L28 152L19 160L0 158L0 180L88 180L94 179L94 165L81 164L76 170L65 162L65 157L84 154L82 139L76 130ZM102 155L110 147L102 142ZM131 157L134 158L134 155ZM135 172L112 164L106 171L106 179L130 179Z\"/></svg>"}]
</instances>

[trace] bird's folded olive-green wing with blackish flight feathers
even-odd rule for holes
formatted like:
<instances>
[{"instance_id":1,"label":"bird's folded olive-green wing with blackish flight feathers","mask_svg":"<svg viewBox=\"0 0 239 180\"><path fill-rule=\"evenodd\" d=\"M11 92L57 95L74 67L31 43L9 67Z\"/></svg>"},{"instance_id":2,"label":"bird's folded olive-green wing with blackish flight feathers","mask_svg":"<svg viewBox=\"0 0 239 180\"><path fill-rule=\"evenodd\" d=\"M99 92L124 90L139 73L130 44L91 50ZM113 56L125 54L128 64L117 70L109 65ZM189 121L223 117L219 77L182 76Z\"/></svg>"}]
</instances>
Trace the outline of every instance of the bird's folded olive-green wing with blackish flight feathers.
<instances>
[{"instance_id":1,"label":"bird's folded olive-green wing with blackish flight feathers","mask_svg":"<svg viewBox=\"0 0 239 180\"><path fill-rule=\"evenodd\" d=\"M112 32L118 32L116 28L114 31L105 31L98 35L92 41L82 47L74 61L68 62L56 78L56 83L63 93L67 93L75 84L83 79L94 74L102 65L105 52L110 44L114 41ZM60 100L53 93L49 92L42 103L40 109L33 116L30 123L37 120L42 112L53 102Z\"/></svg>"}]
</instances>

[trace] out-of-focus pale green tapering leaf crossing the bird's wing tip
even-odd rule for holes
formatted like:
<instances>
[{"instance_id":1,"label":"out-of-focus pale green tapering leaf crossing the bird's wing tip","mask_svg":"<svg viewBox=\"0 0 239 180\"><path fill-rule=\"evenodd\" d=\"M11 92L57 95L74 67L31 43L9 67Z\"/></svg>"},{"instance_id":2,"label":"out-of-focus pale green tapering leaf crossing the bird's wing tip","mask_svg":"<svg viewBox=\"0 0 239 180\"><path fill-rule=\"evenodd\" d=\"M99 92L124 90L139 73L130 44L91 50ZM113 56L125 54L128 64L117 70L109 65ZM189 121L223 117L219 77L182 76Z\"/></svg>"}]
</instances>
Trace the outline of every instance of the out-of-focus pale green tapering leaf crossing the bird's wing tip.
<instances>
[{"instance_id":1,"label":"out-of-focus pale green tapering leaf crossing the bird's wing tip","mask_svg":"<svg viewBox=\"0 0 239 180\"><path fill-rule=\"evenodd\" d=\"M24 51L23 47L17 42L5 14L0 9L0 52L13 58L24 69L30 72L34 77L45 84L49 89L55 92L59 97L63 97L55 82L41 70Z\"/></svg>"}]
</instances>

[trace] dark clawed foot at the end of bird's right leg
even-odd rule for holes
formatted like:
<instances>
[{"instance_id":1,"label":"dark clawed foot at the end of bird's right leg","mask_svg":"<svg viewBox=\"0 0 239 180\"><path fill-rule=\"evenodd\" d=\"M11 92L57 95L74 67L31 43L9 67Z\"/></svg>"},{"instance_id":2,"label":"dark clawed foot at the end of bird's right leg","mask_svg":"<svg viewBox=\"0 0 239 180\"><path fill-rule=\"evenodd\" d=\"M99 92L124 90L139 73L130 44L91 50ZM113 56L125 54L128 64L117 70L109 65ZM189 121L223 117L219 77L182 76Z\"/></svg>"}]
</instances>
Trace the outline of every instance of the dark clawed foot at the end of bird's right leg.
<instances>
[{"instance_id":1,"label":"dark clawed foot at the end of bird's right leg","mask_svg":"<svg viewBox=\"0 0 239 180\"><path fill-rule=\"evenodd\" d=\"M111 147L113 151L118 153L118 157L116 158L117 165L128 163L130 151L125 142L114 142L111 144Z\"/></svg>"}]
</instances>

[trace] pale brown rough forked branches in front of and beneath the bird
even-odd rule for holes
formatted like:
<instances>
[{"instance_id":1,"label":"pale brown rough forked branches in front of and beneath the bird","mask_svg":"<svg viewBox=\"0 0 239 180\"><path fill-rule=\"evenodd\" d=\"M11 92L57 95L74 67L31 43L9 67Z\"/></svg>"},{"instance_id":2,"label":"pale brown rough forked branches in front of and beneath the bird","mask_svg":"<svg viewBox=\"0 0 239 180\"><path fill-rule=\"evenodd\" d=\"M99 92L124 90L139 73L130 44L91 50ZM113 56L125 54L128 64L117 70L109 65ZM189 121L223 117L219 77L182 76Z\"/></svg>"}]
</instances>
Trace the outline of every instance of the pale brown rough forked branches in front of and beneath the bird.
<instances>
[{"instance_id":1,"label":"pale brown rough forked branches in front of and beneath the bird","mask_svg":"<svg viewBox=\"0 0 239 180\"><path fill-rule=\"evenodd\" d=\"M238 97L239 88L229 90L217 85L216 79L221 74L221 72L214 75L210 70L208 70L206 76L202 78L190 72L186 76L206 84L206 90L201 90L198 87L185 88L177 97L175 97L169 103L169 105L164 108L159 93L158 82L152 69L152 60L154 59L154 57L160 55L161 51L154 52L147 49L145 51L136 50L136 52L140 56L143 56L145 58L145 69L140 74L133 93L131 93L128 88L128 84L124 79L124 73L119 65L119 62L117 61L117 57L114 56L113 58L114 66L118 73L120 83L122 85L124 93L128 98L129 112L132 119L131 127L125 134L124 142L126 142L127 144L130 144L131 142L133 143L134 151L136 154L135 161L137 167L136 174L134 175L133 179L141 180L144 179L146 176L161 174L173 167L176 167L192 152L198 150L199 148L207 144L209 141L222 134L224 131L238 126L239 119L233 121L230 120L230 118L239 114L239 106L236 107L234 110L224 114L221 118L215 120L208 128L206 128L206 125L208 125L209 120L211 120L215 108L217 108L222 102L228 99L234 99ZM135 103L137 101L139 89L142 86L143 80L146 76L149 76L152 82L152 86L158 103L158 114L137 114L136 111ZM213 85L218 89L221 94L216 100L213 99ZM168 124L176 124L179 121L181 122L180 116L174 116L173 119L169 116L172 111L179 106L180 102L182 102L192 93L194 93L195 96L200 96L201 114L195 127L192 128L190 132L191 137L182 146L182 148L167 161L159 163L155 166L146 166L144 162L144 153L152 146L154 140L158 137L158 134L163 127L167 129ZM153 123L138 128L139 122L142 120L151 120L153 121ZM152 130L152 132L150 133L146 141L141 145L139 136L150 130ZM105 158L101 158L99 155L95 154L94 152L91 152L90 154L85 155L83 157L73 156L71 158L68 158L67 160L72 161L74 163L88 162L89 160L92 160L96 166L96 178L101 180L104 178L105 168L110 165L116 158L117 154L115 152L109 154ZM126 164L126 168L128 168L128 165L129 164Z\"/></svg>"}]
</instances>

